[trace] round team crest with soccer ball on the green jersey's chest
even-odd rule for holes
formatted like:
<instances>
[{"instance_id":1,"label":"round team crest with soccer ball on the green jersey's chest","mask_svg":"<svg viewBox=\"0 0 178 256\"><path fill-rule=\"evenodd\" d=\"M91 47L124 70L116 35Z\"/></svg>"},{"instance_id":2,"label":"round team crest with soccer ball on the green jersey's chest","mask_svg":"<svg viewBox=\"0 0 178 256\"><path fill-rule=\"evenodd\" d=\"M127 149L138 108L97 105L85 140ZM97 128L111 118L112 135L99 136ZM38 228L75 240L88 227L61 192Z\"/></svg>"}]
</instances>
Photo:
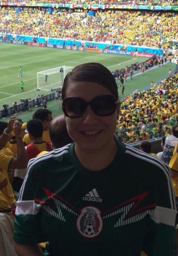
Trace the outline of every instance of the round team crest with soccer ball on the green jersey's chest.
<instances>
[{"instance_id":1,"label":"round team crest with soccer ball on the green jersey's chest","mask_svg":"<svg viewBox=\"0 0 178 256\"><path fill-rule=\"evenodd\" d=\"M77 219L79 233L87 238L94 238L99 235L103 228L103 220L100 211L94 206L87 206L81 210Z\"/></svg>"}]
</instances>

